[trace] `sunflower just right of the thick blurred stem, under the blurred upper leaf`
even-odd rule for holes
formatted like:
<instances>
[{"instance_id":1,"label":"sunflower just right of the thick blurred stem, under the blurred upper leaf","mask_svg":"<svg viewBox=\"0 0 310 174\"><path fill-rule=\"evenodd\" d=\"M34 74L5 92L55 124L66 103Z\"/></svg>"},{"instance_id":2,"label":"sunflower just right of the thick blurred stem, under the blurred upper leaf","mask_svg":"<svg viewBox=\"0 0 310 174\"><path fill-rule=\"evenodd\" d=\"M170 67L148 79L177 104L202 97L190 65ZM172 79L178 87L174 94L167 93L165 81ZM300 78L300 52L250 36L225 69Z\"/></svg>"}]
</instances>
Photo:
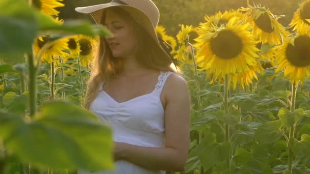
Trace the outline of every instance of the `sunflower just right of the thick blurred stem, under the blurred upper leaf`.
<instances>
[{"instance_id":1,"label":"sunflower just right of the thick blurred stem, under the blurred upper leaf","mask_svg":"<svg viewBox=\"0 0 310 174\"><path fill-rule=\"evenodd\" d=\"M33 45L34 54L38 55L43 48L43 46L51 42L51 38L46 35L39 38L36 38ZM62 38L53 41L53 44L51 44L42 54L41 60L42 62L52 62L53 56L67 56L67 53L64 52L64 50L68 49L67 45L68 39Z\"/></svg>"}]
</instances>

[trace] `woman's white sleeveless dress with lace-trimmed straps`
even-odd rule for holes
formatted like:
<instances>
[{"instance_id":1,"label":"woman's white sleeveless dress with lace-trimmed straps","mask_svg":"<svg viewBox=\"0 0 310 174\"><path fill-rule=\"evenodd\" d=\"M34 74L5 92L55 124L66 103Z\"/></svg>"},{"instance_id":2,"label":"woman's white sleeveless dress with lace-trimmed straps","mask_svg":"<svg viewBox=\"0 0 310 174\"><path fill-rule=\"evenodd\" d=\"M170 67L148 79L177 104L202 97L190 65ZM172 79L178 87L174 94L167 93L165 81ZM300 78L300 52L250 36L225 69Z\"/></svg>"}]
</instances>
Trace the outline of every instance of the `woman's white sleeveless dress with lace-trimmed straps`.
<instances>
[{"instance_id":1,"label":"woman's white sleeveless dress with lace-trimmed straps","mask_svg":"<svg viewBox=\"0 0 310 174\"><path fill-rule=\"evenodd\" d=\"M163 86L173 72L161 72L158 83L151 93L125 102L117 102L105 91L101 82L96 99L90 110L102 121L108 122L113 130L113 140L144 147L164 146L164 108L160 100ZM139 154L137 154L139 155ZM89 172L79 170L77 174L164 174L162 170L147 170L128 161L115 162L113 171Z\"/></svg>"}]
</instances>

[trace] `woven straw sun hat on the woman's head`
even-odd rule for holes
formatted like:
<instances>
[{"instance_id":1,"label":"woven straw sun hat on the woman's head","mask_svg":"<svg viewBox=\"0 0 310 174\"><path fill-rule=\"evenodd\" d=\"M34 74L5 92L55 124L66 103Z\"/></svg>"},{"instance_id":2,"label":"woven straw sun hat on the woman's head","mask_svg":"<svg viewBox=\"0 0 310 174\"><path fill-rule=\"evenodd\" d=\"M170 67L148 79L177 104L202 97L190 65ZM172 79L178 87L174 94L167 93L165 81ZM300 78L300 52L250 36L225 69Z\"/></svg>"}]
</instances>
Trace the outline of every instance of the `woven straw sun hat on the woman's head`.
<instances>
[{"instance_id":1,"label":"woven straw sun hat on the woman's head","mask_svg":"<svg viewBox=\"0 0 310 174\"><path fill-rule=\"evenodd\" d=\"M131 14L131 16L150 34L167 56L171 57L173 60L173 57L169 53L169 48L163 44L163 40L158 38L156 34L155 29L159 22L160 14L158 8L151 0L112 0L107 4L77 7L75 11L90 14L96 23L100 24L103 11L112 7L120 7Z\"/></svg>"}]
</instances>

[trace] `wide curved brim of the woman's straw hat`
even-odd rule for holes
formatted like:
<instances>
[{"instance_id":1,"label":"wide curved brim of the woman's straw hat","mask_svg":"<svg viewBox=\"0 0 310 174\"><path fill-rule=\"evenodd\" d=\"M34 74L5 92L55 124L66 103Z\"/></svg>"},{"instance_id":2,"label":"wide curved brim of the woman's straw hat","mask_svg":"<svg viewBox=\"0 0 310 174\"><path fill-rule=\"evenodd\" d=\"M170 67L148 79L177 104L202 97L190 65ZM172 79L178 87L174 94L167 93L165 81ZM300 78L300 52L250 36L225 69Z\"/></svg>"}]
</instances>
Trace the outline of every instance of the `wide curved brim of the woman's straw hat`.
<instances>
[{"instance_id":1,"label":"wide curved brim of the woman's straw hat","mask_svg":"<svg viewBox=\"0 0 310 174\"><path fill-rule=\"evenodd\" d=\"M94 5L94 6L77 7L75 8L75 11L80 12L80 13L90 14L95 20L96 24L100 24L102 13L104 12L104 10L108 8L113 8L113 7L120 7L126 12L130 13L131 16L135 20L137 20L142 25L142 27L144 27L144 29L150 34L153 40L156 41L157 45L161 48L161 50L164 51L164 53L168 57L170 57L170 55L164 50L164 48L159 43L159 39L157 37L156 30L155 30L156 26L152 24L151 19L147 15L145 15L141 10L137 8L134 8L128 5L119 4L116 2L111 2L107 4L99 4L99 5Z\"/></svg>"}]
</instances>

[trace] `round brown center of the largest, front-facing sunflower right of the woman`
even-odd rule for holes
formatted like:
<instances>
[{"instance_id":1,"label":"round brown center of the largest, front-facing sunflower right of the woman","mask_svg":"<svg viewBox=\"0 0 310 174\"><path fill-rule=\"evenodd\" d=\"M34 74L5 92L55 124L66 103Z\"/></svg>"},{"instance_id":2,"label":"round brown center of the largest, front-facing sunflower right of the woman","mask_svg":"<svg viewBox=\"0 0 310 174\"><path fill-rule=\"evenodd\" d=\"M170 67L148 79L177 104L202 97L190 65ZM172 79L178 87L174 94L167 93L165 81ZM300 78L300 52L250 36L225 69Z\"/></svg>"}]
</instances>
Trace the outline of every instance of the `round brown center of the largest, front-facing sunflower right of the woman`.
<instances>
[{"instance_id":1,"label":"round brown center of the largest, front-facing sunflower right of the woman","mask_svg":"<svg viewBox=\"0 0 310 174\"><path fill-rule=\"evenodd\" d=\"M216 38L210 41L211 50L221 59L231 59L242 51L242 40L234 32L221 31Z\"/></svg>"}]
</instances>

